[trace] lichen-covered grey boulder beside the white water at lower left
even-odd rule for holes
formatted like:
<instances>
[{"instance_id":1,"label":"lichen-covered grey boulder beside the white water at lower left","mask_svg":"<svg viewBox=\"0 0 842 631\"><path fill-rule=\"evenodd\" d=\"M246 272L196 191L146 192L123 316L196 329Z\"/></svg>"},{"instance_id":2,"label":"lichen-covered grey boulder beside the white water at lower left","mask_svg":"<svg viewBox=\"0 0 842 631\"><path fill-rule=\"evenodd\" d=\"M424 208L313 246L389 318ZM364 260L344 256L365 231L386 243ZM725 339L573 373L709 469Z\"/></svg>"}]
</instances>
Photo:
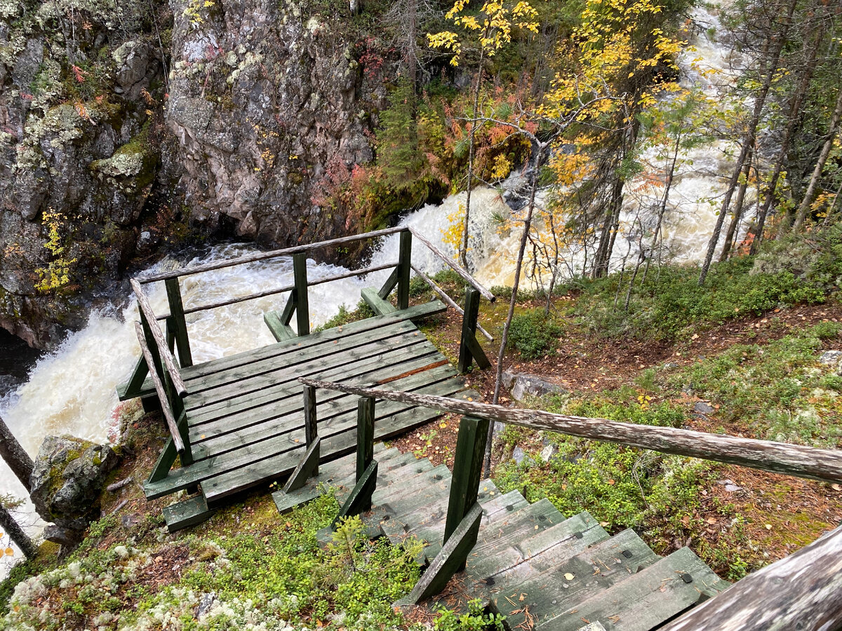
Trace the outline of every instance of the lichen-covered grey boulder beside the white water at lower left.
<instances>
[{"instance_id":1,"label":"lichen-covered grey boulder beside the white water at lower left","mask_svg":"<svg viewBox=\"0 0 842 631\"><path fill-rule=\"evenodd\" d=\"M29 479L35 510L59 528L84 530L99 518L99 493L118 460L108 444L72 436L46 437Z\"/></svg>"}]
</instances>

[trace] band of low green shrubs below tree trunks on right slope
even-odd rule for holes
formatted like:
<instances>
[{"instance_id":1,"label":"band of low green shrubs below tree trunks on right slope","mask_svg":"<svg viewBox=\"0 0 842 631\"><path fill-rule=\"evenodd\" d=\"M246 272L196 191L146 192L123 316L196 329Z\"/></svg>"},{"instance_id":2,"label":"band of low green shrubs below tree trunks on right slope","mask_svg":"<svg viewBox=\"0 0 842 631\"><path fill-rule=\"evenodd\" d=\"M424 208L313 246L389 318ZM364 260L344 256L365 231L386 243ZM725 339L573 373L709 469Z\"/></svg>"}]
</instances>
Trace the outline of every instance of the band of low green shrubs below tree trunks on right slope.
<instances>
[{"instance_id":1,"label":"band of low green shrubs below tree trunks on right slope","mask_svg":"<svg viewBox=\"0 0 842 631\"><path fill-rule=\"evenodd\" d=\"M621 275L584 285L576 313L605 337L674 339L739 315L761 315L775 307L817 304L842 281L842 227L773 242L758 257L738 257L711 266L704 286L694 267L666 265L638 284L629 309L616 305Z\"/></svg>"}]
</instances>

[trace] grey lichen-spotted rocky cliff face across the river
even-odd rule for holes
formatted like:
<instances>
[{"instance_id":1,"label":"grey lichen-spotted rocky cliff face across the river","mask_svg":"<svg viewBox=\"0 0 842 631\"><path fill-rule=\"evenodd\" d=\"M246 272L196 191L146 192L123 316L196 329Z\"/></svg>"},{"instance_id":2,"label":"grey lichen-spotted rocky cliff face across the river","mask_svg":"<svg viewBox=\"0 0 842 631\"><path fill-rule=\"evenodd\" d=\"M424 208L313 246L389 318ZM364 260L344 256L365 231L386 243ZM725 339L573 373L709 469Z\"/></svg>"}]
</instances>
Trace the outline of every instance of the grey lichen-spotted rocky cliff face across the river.
<instances>
[{"instance_id":1,"label":"grey lichen-spotted rocky cliff face across the river","mask_svg":"<svg viewBox=\"0 0 842 631\"><path fill-rule=\"evenodd\" d=\"M348 228L312 199L332 167L371 160L385 92L342 16L156 4L0 0L0 326L35 346L173 232L284 245Z\"/></svg>"}]
</instances>

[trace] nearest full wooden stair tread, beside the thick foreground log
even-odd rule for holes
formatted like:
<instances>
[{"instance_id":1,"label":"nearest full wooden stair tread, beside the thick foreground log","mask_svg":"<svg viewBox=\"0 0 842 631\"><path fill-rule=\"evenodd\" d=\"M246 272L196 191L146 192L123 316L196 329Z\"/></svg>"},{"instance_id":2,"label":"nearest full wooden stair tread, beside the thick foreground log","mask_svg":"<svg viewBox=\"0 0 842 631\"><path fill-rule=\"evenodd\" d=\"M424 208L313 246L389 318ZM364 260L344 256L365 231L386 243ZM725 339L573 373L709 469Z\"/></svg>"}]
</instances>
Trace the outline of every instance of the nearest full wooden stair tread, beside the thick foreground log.
<instances>
[{"instance_id":1,"label":"nearest full wooden stair tread, beside the thick foreground log","mask_svg":"<svg viewBox=\"0 0 842 631\"><path fill-rule=\"evenodd\" d=\"M689 548L630 575L599 594L557 612L541 631L578 631L600 622L607 631L650 631L728 586Z\"/></svg>"}]
</instances>

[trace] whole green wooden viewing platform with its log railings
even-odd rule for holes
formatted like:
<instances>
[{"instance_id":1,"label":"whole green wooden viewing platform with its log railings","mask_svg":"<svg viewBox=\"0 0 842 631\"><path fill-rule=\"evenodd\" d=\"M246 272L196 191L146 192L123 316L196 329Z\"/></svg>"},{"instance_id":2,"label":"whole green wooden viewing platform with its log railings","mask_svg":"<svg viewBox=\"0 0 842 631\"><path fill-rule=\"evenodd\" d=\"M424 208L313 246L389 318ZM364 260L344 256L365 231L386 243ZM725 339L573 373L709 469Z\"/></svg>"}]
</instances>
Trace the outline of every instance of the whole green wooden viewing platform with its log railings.
<instances>
[{"instance_id":1,"label":"whole green wooden viewing platform with its log railings","mask_svg":"<svg viewBox=\"0 0 842 631\"><path fill-rule=\"evenodd\" d=\"M141 396L147 405L163 404L171 437L144 490L148 499L179 490L193 494L164 510L170 530L200 522L226 498L282 480L296 469L307 444L306 400L297 380L300 377L342 379L364 387L428 395L456 396L465 390L457 369L413 323L442 313L447 307L439 300L408 305L409 231L401 231L401 246L400 260L392 266L395 271L386 284L361 291L361 297L377 315L315 333L309 331L306 252L292 252L295 284L275 292L289 292L285 309L264 315L278 342L197 365L192 365L184 314L200 309L185 309L179 290L179 278L197 273L197 268L132 281L141 312L137 328L144 359L132 378L120 386L119 394L122 400ZM285 253L276 252L274 256ZM246 258L247 262L253 260ZM230 264L202 266L198 273ZM156 280L167 284L169 315L155 315L141 289L141 282ZM397 289L397 306L387 300L393 289ZM468 296L473 300L467 305L466 318L472 344L463 344L462 371L475 357L482 364L488 363L472 332L477 327L478 292L469 292ZM300 335L290 326L294 317ZM158 328L157 320L166 322L166 334ZM176 350L180 361L170 354ZM156 369L143 380L149 365ZM324 392L315 401L320 462L338 459L356 449L356 406L356 397L338 392ZM385 402L377 408L374 437L382 440L408 432L440 414L425 407ZM180 467L173 469L176 454Z\"/></svg>"}]
</instances>

